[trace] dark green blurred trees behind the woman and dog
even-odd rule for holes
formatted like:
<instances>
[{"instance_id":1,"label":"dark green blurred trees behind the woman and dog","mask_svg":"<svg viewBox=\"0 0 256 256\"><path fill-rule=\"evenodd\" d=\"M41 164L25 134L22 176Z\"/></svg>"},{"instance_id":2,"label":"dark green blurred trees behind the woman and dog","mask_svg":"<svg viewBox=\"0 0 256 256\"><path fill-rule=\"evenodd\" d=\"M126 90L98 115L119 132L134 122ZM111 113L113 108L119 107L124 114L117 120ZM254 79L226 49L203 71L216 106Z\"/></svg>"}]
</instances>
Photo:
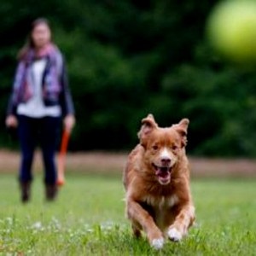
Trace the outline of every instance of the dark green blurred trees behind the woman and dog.
<instances>
[{"instance_id":1,"label":"dark green blurred trees behind the woman and dog","mask_svg":"<svg viewBox=\"0 0 256 256\"><path fill-rule=\"evenodd\" d=\"M190 119L189 154L256 156L256 73L222 61L206 38L208 0L9 0L0 5L0 145L16 54L44 16L65 54L78 123L72 150L124 150L140 120Z\"/></svg>"}]
</instances>

